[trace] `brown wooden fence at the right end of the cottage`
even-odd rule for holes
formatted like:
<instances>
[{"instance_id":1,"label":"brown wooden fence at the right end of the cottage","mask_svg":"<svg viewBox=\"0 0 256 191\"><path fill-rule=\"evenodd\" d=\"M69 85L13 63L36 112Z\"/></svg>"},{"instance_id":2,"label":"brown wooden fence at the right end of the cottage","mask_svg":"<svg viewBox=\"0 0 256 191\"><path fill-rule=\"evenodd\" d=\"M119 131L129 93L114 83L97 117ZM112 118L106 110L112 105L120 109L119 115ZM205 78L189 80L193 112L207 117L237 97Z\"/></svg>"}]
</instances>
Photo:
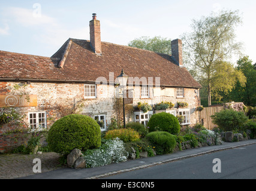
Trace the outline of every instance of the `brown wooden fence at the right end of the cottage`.
<instances>
[{"instance_id":1,"label":"brown wooden fence at the right end of the cottage","mask_svg":"<svg viewBox=\"0 0 256 191\"><path fill-rule=\"evenodd\" d=\"M204 109L201 111L201 123L206 127L208 130L212 130L217 125L212 123L211 115L214 115L216 112L220 112L222 109L224 109L224 106L217 105L217 106L210 106L210 107L204 107Z\"/></svg>"}]
</instances>

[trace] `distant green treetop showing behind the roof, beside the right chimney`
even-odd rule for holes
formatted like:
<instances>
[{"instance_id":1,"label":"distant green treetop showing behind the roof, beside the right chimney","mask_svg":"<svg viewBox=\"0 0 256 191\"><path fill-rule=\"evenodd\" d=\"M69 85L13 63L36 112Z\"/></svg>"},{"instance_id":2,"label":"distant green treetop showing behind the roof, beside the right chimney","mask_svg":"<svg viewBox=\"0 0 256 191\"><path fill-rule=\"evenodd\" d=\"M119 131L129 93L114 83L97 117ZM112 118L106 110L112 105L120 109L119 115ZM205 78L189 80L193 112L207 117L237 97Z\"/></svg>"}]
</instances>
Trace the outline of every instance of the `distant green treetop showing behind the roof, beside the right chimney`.
<instances>
[{"instance_id":1,"label":"distant green treetop showing behind the roof, beside the right chimney","mask_svg":"<svg viewBox=\"0 0 256 191\"><path fill-rule=\"evenodd\" d=\"M128 43L129 47L141 48L143 50L153 51L155 53L171 54L171 39L155 36L141 36Z\"/></svg>"}]
</instances>

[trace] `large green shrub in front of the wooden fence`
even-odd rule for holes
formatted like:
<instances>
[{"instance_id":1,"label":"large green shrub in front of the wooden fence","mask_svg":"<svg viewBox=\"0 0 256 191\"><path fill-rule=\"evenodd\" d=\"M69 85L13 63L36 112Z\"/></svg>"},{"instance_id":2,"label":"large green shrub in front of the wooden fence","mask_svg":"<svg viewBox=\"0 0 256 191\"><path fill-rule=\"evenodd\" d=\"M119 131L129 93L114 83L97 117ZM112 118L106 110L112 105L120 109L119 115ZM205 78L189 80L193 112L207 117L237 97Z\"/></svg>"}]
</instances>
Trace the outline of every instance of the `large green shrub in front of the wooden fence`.
<instances>
[{"instance_id":1,"label":"large green shrub in front of the wooden fence","mask_svg":"<svg viewBox=\"0 0 256 191\"><path fill-rule=\"evenodd\" d=\"M213 124L218 125L218 127L223 131L240 130L248 120L245 113L237 112L233 109L221 110L211 117Z\"/></svg>"}]
</instances>

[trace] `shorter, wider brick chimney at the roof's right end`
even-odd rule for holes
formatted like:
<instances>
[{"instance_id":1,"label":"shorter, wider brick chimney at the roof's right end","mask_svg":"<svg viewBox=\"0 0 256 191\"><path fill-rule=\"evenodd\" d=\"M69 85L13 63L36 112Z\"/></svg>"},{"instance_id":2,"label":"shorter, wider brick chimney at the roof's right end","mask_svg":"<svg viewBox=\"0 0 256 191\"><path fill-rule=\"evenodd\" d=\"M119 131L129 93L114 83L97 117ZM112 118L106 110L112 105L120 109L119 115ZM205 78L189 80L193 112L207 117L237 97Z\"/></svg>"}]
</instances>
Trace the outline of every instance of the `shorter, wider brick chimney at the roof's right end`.
<instances>
[{"instance_id":1,"label":"shorter, wider brick chimney at the roof's right end","mask_svg":"<svg viewBox=\"0 0 256 191\"><path fill-rule=\"evenodd\" d=\"M171 41L171 57L174 58L178 66L183 67L182 41L180 39Z\"/></svg>"}]
</instances>

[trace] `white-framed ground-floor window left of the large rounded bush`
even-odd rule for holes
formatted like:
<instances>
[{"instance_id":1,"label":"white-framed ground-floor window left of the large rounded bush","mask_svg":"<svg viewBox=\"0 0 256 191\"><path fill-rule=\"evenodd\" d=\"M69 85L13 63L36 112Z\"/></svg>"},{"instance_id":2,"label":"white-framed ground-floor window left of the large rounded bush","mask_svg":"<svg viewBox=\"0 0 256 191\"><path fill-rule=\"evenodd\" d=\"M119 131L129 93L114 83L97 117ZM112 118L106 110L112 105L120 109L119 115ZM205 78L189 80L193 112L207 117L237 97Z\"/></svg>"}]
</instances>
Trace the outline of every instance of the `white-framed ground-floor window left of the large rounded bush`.
<instances>
[{"instance_id":1,"label":"white-framed ground-floor window left of the large rounded bush","mask_svg":"<svg viewBox=\"0 0 256 191\"><path fill-rule=\"evenodd\" d=\"M31 117L32 115L32 117ZM44 115L44 117L42 117ZM43 119L43 120L42 120ZM32 121L31 121L32 120ZM41 121L44 121L41 123ZM46 112L28 112L28 122L31 131L47 129L47 116ZM44 124L43 127L41 124Z\"/></svg>"}]
</instances>

